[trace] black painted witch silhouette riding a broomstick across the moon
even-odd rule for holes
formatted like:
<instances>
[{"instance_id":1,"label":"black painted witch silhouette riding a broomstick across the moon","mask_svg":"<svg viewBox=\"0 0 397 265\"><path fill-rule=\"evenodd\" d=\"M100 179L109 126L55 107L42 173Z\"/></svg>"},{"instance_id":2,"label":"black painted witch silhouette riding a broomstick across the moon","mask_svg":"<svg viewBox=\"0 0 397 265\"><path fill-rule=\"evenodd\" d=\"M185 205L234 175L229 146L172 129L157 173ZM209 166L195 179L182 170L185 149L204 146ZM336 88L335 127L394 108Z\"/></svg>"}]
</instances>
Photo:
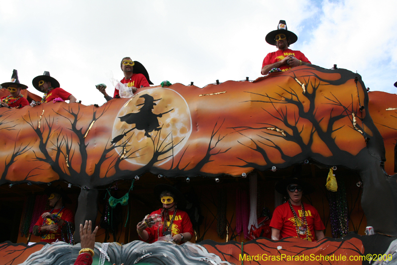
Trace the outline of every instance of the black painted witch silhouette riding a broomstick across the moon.
<instances>
[{"instance_id":1,"label":"black painted witch silhouette riding a broomstick across the moon","mask_svg":"<svg viewBox=\"0 0 397 265\"><path fill-rule=\"evenodd\" d=\"M154 108L155 105L157 105L156 103L154 103L154 101L158 101L161 98L154 99L151 95L148 94L143 94L139 97L142 97L145 100L144 103L136 105L136 106L143 105L139 109L139 111L137 113L129 113L125 116L119 117L122 122L126 122L128 124L135 124L135 127L113 138L111 142L112 144L116 144L117 142L119 142L121 139L123 139L124 136L126 136L133 129L144 130L145 136L150 137L149 135L150 132L159 131L161 129L160 124L158 123L158 118L161 118L163 114L166 114L173 110L170 109L167 112L154 114L152 112L152 109Z\"/></svg>"}]
</instances>

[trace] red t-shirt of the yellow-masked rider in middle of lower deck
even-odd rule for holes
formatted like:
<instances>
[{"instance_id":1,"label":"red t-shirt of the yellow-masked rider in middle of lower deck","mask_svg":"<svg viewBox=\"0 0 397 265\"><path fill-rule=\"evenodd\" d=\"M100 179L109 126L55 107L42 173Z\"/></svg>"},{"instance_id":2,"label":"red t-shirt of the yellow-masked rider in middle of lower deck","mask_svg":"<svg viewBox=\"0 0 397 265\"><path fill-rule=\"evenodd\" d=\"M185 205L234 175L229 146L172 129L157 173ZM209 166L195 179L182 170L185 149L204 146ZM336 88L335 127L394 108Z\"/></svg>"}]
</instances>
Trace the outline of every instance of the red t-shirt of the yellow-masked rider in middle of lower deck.
<instances>
[{"instance_id":1,"label":"red t-shirt of the yellow-masked rider in middle of lower deck","mask_svg":"<svg viewBox=\"0 0 397 265\"><path fill-rule=\"evenodd\" d=\"M154 215L156 213L161 214L161 209L158 209L157 211L152 212L150 215ZM174 212L168 212L168 214L170 215L170 219L171 219ZM160 237L164 236L163 235L163 224L164 224L164 220L161 219L161 222L159 224L159 227L160 227L159 236ZM167 225L170 225L170 221L167 221ZM147 227L145 229L145 231L149 234L149 239L147 240L148 243L153 243L158 240L157 228L158 228L157 226L152 226L150 228ZM174 222L172 223L172 228L171 228L172 236L186 233L186 232L189 232L193 237L194 231L193 231L192 222L190 221L190 218L189 218L189 215L187 212L177 209L177 213L175 215L175 219L174 219ZM142 240L142 239L140 239L140 240Z\"/></svg>"}]
</instances>

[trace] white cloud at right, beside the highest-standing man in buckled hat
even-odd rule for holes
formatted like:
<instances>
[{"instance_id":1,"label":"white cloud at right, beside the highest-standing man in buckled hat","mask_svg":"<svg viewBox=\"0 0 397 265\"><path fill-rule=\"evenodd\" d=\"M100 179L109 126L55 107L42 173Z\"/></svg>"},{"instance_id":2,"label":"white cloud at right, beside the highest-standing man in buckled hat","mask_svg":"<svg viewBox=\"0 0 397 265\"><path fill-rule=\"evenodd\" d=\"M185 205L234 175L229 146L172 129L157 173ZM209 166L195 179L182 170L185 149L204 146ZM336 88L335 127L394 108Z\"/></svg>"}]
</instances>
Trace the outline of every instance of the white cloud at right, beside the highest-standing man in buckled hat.
<instances>
[{"instance_id":1,"label":"white cloud at right, beside the highest-standing man in buckled hat","mask_svg":"<svg viewBox=\"0 0 397 265\"><path fill-rule=\"evenodd\" d=\"M396 6L391 0L325 0L321 19L302 50L314 64L357 71L371 90L396 92Z\"/></svg>"}]
</instances>

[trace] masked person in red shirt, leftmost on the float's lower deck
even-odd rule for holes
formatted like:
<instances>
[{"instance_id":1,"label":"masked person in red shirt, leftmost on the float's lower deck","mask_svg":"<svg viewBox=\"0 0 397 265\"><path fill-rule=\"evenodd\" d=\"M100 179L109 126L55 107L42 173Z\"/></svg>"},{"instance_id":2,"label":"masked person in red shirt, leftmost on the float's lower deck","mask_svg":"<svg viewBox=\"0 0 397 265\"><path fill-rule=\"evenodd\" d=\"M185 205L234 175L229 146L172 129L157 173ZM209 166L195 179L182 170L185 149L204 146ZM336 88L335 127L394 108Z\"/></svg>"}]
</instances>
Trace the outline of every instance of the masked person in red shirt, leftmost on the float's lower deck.
<instances>
[{"instance_id":1,"label":"masked person in red shirt, leftmost on the float's lower deck","mask_svg":"<svg viewBox=\"0 0 397 265\"><path fill-rule=\"evenodd\" d=\"M64 203L71 202L70 199L60 186L49 188L46 193L52 209L40 216L33 227L33 234L40 236L41 242L52 243L67 238L67 243L73 244L71 235L74 230L74 214L64 206Z\"/></svg>"}]
</instances>

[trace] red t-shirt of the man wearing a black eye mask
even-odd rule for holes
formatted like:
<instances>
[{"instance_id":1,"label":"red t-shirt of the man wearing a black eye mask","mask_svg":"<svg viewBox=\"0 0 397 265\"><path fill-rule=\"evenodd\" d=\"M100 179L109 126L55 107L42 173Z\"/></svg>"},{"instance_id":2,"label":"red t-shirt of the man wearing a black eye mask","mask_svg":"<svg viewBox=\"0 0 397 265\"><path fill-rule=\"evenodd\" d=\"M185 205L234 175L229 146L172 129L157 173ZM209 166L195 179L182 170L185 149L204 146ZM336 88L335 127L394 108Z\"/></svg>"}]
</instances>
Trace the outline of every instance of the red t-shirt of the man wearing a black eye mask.
<instances>
[{"instance_id":1,"label":"red t-shirt of the man wearing a black eye mask","mask_svg":"<svg viewBox=\"0 0 397 265\"><path fill-rule=\"evenodd\" d=\"M305 207L305 215L307 225L309 227L308 240L314 241L314 230L324 230L326 227L324 226L323 221L320 219L319 212L316 210L316 208L307 203L303 203L303 206ZM292 205L292 207L294 207L299 219L299 237L306 239L306 231L302 227L302 207L295 205ZM273 216L270 221L270 227L280 230L280 239L284 237L298 237L296 233L294 214L292 213L288 202L283 203L274 209Z\"/></svg>"}]
</instances>

